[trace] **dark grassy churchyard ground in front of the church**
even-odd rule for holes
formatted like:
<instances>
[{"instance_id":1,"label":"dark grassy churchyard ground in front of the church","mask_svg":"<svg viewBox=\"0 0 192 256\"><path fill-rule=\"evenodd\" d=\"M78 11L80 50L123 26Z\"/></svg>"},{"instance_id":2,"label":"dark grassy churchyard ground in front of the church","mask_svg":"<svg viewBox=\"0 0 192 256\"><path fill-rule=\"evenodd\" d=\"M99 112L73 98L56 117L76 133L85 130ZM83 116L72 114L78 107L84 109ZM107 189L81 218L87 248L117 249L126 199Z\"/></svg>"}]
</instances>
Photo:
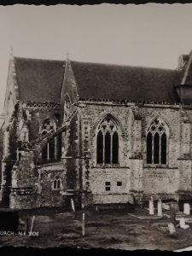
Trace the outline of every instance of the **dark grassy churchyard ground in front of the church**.
<instances>
[{"instance_id":1,"label":"dark grassy churchyard ground in front of the church","mask_svg":"<svg viewBox=\"0 0 192 256\"><path fill-rule=\"evenodd\" d=\"M82 236L82 214L85 215L85 236ZM129 214L131 213L131 215ZM80 247L124 250L176 250L192 245L192 224L188 230L176 228L176 236L160 229L170 222L168 217L149 218L145 209L99 210L77 212L63 209L39 209L20 212L20 218L32 219L38 236L0 236L1 246L15 247ZM146 216L140 219L136 216ZM29 221L30 223L30 221ZM30 224L31 225L31 224Z\"/></svg>"}]
</instances>

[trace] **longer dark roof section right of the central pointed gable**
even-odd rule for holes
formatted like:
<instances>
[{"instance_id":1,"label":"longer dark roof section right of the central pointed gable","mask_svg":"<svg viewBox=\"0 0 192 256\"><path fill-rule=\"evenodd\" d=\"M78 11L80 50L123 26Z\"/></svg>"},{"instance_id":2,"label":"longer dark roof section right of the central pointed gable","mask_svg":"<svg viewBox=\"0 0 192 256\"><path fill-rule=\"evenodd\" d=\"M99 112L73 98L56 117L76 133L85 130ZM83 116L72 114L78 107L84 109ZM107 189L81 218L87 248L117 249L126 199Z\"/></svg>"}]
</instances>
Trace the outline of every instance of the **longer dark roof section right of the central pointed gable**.
<instances>
[{"instance_id":1,"label":"longer dark roof section right of the central pointed gable","mask_svg":"<svg viewBox=\"0 0 192 256\"><path fill-rule=\"evenodd\" d=\"M181 83L177 70L129 67L71 61L83 98L178 102L174 86Z\"/></svg>"}]
</instances>

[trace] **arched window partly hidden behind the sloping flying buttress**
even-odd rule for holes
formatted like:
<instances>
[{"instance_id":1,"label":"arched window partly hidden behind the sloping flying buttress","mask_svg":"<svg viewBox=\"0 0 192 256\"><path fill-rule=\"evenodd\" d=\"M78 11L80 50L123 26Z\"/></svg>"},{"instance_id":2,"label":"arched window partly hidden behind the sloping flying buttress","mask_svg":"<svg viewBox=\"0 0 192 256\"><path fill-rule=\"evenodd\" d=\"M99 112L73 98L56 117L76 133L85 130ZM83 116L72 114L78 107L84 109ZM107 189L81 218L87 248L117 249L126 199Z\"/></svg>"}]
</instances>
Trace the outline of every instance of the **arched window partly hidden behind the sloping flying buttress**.
<instances>
[{"instance_id":1,"label":"arched window partly hidden behind the sloping flying buttress","mask_svg":"<svg viewBox=\"0 0 192 256\"><path fill-rule=\"evenodd\" d=\"M44 124L42 125L42 132L41 134L44 136L47 133L52 133L55 131L55 123L54 121L47 119L44 121ZM42 158L44 160L49 159L55 159L55 138L52 138L49 140L49 143L47 143L42 151Z\"/></svg>"}]
</instances>

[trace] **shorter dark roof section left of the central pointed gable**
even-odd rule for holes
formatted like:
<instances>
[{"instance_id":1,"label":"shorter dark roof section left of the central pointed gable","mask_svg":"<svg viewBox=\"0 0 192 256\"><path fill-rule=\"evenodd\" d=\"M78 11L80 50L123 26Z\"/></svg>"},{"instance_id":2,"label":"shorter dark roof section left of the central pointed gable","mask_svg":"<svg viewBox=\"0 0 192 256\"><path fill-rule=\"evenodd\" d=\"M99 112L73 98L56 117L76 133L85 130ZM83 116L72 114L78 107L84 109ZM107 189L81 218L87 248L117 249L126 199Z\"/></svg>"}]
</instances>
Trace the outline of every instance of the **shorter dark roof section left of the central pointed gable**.
<instances>
[{"instance_id":1,"label":"shorter dark roof section left of the central pointed gable","mask_svg":"<svg viewBox=\"0 0 192 256\"><path fill-rule=\"evenodd\" d=\"M29 102L58 102L65 61L15 57L19 98Z\"/></svg>"}]
</instances>

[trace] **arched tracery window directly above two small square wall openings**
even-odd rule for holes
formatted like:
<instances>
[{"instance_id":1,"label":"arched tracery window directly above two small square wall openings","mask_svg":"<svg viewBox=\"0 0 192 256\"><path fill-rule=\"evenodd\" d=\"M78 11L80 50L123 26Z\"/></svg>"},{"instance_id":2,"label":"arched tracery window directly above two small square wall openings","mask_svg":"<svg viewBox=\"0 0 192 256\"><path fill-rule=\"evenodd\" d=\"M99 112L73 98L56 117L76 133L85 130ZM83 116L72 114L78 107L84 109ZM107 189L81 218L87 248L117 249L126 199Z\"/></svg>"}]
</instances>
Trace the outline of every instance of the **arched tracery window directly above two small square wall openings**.
<instances>
[{"instance_id":1,"label":"arched tracery window directly above two small square wall openings","mask_svg":"<svg viewBox=\"0 0 192 256\"><path fill-rule=\"evenodd\" d=\"M119 135L118 127L111 118L106 118L98 126L96 135L97 164L118 164Z\"/></svg>"}]
</instances>

